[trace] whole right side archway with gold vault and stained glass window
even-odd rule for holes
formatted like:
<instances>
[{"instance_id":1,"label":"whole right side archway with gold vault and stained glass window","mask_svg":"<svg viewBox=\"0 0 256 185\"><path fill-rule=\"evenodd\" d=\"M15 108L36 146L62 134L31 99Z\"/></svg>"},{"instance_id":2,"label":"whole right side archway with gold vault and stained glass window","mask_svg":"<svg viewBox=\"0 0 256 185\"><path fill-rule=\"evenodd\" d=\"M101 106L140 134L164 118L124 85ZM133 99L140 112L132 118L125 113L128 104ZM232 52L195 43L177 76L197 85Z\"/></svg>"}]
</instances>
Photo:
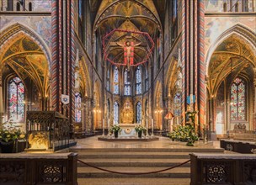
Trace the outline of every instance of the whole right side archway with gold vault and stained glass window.
<instances>
[{"instance_id":1,"label":"whole right side archway with gold vault and stained glass window","mask_svg":"<svg viewBox=\"0 0 256 185\"><path fill-rule=\"evenodd\" d=\"M253 39L253 38L252 38ZM255 37L254 37L255 40ZM221 137L237 124L253 130L255 45L231 32L216 46L208 65L207 119L211 131ZM255 102L255 99L254 99Z\"/></svg>"}]
</instances>

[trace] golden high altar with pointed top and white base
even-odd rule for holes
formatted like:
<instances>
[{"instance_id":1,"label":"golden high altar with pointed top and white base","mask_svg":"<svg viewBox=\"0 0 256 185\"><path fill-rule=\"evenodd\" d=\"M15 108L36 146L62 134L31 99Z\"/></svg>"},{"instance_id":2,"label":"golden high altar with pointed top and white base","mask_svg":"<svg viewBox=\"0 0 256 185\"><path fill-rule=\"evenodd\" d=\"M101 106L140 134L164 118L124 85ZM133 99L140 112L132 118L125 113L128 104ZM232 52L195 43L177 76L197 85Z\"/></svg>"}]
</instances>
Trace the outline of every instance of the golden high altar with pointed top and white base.
<instances>
[{"instance_id":1,"label":"golden high altar with pointed top and white base","mask_svg":"<svg viewBox=\"0 0 256 185\"><path fill-rule=\"evenodd\" d=\"M119 124L121 127L120 136L136 136L135 127L138 124L134 124L134 114L133 114L133 106L131 103L131 99L126 99L122 112L121 112L121 123Z\"/></svg>"}]
</instances>

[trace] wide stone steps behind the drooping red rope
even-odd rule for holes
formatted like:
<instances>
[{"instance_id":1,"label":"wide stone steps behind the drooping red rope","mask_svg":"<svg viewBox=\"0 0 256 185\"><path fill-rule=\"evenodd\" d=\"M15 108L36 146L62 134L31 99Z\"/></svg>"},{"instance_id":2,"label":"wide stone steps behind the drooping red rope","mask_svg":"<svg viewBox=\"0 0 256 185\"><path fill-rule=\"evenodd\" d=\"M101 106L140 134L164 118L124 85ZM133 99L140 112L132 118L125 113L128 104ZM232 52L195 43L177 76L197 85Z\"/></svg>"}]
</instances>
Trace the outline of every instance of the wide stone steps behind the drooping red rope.
<instances>
[{"instance_id":1,"label":"wide stone steps behind the drooping red rope","mask_svg":"<svg viewBox=\"0 0 256 185\"><path fill-rule=\"evenodd\" d=\"M192 152L223 152L214 148L75 148L78 159L115 172L155 172L189 160ZM78 162L78 184L83 185L189 185L190 164L143 175L104 172Z\"/></svg>"}]
</instances>

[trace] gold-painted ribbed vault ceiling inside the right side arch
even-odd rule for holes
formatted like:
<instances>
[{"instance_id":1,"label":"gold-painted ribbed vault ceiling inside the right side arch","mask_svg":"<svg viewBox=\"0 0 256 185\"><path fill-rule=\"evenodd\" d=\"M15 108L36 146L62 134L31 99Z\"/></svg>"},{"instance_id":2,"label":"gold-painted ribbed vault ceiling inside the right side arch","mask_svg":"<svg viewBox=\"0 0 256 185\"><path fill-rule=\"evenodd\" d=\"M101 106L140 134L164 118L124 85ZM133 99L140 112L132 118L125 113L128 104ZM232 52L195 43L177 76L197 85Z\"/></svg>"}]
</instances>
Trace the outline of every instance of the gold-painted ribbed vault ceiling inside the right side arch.
<instances>
[{"instance_id":1,"label":"gold-painted ribbed vault ceiling inside the right side arch","mask_svg":"<svg viewBox=\"0 0 256 185\"><path fill-rule=\"evenodd\" d=\"M216 48L211 56L209 65L211 93L216 93L217 88L226 77L234 79L237 74L253 74L252 69L255 66L255 50L247 41L232 34Z\"/></svg>"}]
</instances>

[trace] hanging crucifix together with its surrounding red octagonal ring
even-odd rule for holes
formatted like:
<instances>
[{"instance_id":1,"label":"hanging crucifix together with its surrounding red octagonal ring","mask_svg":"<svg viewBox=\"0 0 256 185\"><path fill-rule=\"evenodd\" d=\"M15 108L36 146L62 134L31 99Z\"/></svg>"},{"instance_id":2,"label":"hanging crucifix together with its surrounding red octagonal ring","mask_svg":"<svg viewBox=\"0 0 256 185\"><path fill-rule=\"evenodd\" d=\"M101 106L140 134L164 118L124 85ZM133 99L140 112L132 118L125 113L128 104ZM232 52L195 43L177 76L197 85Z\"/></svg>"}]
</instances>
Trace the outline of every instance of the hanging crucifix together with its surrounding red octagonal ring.
<instances>
[{"instance_id":1,"label":"hanging crucifix together with its surrounding red octagonal ring","mask_svg":"<svg viewBox=\"0 0 256 185\"><path fill-rule=\"evenodd\" d=\"M125 33L129 34L130 36L126 36L125 39L122 41L116 42L112 39L112 35L115 33ZM140 47L143 47L141 45L141 42L136 42L136 40L131 40L132 36L131 34L134 35L135 38L140 38L141 40L146 40L147 45L144 47L144 55L141 56L139 59L140 61L135 60L135 49L137 46L140 45ZM123 30L123 29L113 29L109 34L106 34L103 38L103 49L104 49L104 60L109 61L112 63L114 66L127 66L128 71L130 71L131 66L139 66L147 61L149 61L149 57L152 55L152 50L154 48L154 41L152 40L151 36L146 33L146 32L141 32L141 31L129 31L129 30ZM124 50L124 60L120 62L120 60L116 60L114 57L109 57L110 53L110 46L116 46L119 45L123 48Z\"/></svg>"}]
</instances>

